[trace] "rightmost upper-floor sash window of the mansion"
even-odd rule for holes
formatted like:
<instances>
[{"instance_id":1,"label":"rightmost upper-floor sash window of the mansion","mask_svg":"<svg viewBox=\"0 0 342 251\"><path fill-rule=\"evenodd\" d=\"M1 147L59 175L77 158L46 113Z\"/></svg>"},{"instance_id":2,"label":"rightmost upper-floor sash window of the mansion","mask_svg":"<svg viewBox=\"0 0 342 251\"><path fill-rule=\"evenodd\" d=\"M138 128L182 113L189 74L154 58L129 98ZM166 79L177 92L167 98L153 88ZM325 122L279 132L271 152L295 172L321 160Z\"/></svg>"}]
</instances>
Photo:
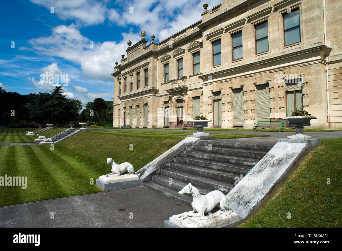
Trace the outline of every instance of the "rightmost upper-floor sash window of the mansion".
<instances>
[{"instance_id":1,"label":"rightmost upper-floor sash window of the mansion","mask_svg":"<svg viewBox=\"0 0 342 251\"><path fill-rule=\"evenodd\" d=\"M299 9L284 15L284 44L300 42Z\"/></svg>"}]
</instances>

